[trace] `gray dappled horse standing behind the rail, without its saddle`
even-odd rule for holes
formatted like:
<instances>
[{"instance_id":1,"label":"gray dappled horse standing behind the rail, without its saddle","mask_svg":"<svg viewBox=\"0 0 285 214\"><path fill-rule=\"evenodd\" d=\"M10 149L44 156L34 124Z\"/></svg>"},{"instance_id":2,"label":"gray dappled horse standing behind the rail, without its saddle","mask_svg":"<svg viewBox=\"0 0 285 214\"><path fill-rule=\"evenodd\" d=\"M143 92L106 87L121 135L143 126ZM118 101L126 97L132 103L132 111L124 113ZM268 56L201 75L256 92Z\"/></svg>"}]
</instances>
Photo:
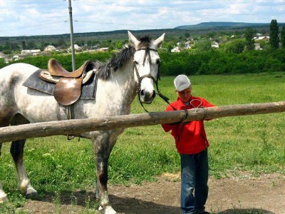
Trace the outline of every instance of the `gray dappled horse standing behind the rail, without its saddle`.
<instances>
[{"instance_id":1,"label":"gray dappled horse standing behind the rail, without its saddle","mask_svg":"<svg viewBox=\"0 0 285 214\"><path fill-rule=\"evenodd\" d=\"M95 100L79 99L73 104L74 118L96 118L130 113L137 89L142 103L151 103L155 98L160 56L157 49L165 34L155 41L148 36L136 39L128 31L133 46L126 47L108 63L93 63L98 73L98 86ZM53 96L23 86L24 81L38 68L26 63L15 63L0 70L0 127L16 126L25 123L59 121L68 118L66 106L58 104ZM95 196L100 199L103 213L116 213L108 198L108 158L124 128L108 131L81 133L83 138L93 141L96 163ZM26 139L11 143L11 156L16 165L21 193L37 195L24 167L23 155ZM2 142L3 143L3 142ZM0 139L0 151L1 151ZM1 153L0 153L1 154ZM7 200L0 183L0 203Z\"/></svg>"}]
</instances>

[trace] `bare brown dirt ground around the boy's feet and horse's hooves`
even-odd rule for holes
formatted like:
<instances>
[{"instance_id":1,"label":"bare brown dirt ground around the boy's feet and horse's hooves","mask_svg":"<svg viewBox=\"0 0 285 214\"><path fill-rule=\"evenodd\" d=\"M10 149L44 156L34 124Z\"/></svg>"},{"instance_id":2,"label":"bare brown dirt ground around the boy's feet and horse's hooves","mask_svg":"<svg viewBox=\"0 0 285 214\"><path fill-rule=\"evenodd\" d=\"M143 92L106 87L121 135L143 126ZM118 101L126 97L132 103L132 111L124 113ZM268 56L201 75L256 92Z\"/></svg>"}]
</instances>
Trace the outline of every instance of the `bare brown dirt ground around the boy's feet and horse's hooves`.
<instances>
[{"instance_id":1,"label":"bare brown dirt ground around the boy's feet and horse's hooves","mask_svg":"<svg viewBox=\"0 0 285 214\"><path fill-rule=\"evenodd\" d=\"M94 200L93 190L87 193ZM179 175L163 175L157 183L109 186L110 202L118 213L157 214L180 213ZM80 213L86 207L86 193L76 193L77 205L71 195L61 195L61 203L53 199L28 200L24 210L31 213ZM58 212L59 210L59 212ZM209 180L207 211L211 213L276 213L285 214L285 175L247 174L234 178Z\"/></svg>"}]
</instances>

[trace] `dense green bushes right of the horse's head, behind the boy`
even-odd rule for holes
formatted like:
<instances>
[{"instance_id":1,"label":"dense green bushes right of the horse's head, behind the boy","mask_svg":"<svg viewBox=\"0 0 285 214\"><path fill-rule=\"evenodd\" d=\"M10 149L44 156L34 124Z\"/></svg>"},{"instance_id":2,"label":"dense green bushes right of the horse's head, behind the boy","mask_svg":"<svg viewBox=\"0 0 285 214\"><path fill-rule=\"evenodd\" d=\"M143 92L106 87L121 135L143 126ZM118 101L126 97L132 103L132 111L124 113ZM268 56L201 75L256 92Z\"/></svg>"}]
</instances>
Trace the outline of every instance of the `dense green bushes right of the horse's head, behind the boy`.
<instances>
[{"instance_id":1,"label":"dense green bushes right of the horse's head, behind the boy","mask_svg":"<svg viewBox=\"0 0 285 214\"><path fill-rule=\"evenodd\" d=\"M160 58L161 73L166 76L285 71L285 49L244 51L241 54L217 50L198 54L161 53Z\"/></svg>"}]
</instances>

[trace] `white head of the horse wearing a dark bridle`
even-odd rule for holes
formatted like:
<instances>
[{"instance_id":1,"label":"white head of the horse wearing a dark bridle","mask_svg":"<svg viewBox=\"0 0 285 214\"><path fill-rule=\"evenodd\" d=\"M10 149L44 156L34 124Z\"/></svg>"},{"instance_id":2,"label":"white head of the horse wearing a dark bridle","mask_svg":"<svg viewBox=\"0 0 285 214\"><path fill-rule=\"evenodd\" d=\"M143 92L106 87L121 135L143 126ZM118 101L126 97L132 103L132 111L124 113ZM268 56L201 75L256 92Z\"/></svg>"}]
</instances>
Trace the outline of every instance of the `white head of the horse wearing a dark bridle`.
<instances>
[{"instance_id":1,"label":"white head of the horse wearing a dark bridle","mask_svg":"<svg viewBox=\"0 0 285 214\"><path fill-rule=\"evenodd\" d=\"M138 81L138 96L140 102L151 103L155 98L155 84L159 77L160 56L157 49L165 39L165 34L152 41L148 36L136 39L128 31L129 40L135 47L134 72L135 80Z\"/></svg>"}]
</instances>

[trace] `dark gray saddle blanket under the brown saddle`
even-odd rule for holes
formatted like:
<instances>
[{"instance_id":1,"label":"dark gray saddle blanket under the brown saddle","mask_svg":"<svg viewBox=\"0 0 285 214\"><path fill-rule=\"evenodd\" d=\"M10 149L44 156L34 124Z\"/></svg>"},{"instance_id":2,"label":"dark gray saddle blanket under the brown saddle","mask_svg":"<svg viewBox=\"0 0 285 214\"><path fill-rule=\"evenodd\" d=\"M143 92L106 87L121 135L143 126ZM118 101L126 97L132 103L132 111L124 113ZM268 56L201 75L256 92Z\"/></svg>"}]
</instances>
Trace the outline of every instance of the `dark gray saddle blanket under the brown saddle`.
<instances>
[{"instance_id":1,"label":"dark gray saddle blanket under the brown saddle","mask_svg":"<svg viewBox=\"0 0 285 214\"><path fill-rule=\"evenodd\" d=\"M39 78L38 76L41 73L41 71L47 71L47 70L38 69L26 79L26 81L23 83L23 86L32 88L37 91L41 91L43 93L53 95L53 90L56 84L48 83L46 81L43 81L41 78ZM97 81L98 81L98 76L94 72L93 76L88 80L88 82L82 86L81 97L80 97L81 99L95 100Z\"/></svg>"}]
</instances>

